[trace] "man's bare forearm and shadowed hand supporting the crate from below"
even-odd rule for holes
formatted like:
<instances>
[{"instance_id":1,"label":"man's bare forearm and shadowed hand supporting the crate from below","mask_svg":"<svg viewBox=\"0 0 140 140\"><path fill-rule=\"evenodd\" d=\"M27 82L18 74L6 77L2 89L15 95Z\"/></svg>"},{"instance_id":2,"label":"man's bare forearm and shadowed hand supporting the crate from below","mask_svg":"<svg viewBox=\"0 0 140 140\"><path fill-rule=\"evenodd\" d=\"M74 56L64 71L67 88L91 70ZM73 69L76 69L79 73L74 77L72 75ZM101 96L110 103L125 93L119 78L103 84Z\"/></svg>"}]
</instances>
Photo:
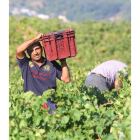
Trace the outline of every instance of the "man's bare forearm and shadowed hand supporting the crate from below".
<instances>
[{"instance_id":1,"label":"man's bare forearm and shadowed hand supporting the crate from below","mask_svg":"<svg viewBox=\"0 0 140 140\"><path fill-rule=\"evenodd\" d=\"M66 59L61 59L61 66L62 66L62 76L61 80L65 83L70 82L70 74L69 74L69 69L66 63Z\"/></svg>"}]
</instances>

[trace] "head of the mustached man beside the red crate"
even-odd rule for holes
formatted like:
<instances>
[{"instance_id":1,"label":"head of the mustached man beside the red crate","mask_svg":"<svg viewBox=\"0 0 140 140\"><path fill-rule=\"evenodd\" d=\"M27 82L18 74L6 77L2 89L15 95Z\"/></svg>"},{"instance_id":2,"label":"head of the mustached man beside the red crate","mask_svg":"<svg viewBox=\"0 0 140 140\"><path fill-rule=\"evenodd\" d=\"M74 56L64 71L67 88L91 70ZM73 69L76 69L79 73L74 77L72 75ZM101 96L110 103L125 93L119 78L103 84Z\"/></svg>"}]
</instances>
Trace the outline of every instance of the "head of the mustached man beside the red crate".
<instances>
[{"instance_id":1,"label":"head of the mustached man beside the red crate","mask_svg":"<svg viewBox=\"0 0 140 140\"><path fill-rule=\"evenodd\" d=\"M42 46L40 42L35 42L27 49L27 53L33 61L40 61L42 58Z\"/></svg>"}]
</instances>

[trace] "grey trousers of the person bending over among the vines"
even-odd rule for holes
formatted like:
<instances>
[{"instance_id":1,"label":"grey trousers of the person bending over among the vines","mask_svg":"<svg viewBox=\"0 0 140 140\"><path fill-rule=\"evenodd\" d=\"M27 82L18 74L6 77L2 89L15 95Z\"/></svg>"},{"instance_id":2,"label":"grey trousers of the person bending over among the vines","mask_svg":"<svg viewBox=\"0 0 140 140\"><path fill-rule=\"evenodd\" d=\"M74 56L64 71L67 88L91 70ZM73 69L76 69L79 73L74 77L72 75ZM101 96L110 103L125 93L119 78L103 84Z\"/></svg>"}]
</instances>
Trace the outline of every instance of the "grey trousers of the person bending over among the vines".
<instances>
[{"instance_id":1,"label":"grey trousers of the person bending over among the vines","mask_svg":"<svg viewBox=\"0 0 140 140\"><path fill-rule=\"evenodd\" d=\"M88 75L85 81L86 87L97 87L98 91L109 90L105 78L99 75Z\"/></svg>"}]
</instances>

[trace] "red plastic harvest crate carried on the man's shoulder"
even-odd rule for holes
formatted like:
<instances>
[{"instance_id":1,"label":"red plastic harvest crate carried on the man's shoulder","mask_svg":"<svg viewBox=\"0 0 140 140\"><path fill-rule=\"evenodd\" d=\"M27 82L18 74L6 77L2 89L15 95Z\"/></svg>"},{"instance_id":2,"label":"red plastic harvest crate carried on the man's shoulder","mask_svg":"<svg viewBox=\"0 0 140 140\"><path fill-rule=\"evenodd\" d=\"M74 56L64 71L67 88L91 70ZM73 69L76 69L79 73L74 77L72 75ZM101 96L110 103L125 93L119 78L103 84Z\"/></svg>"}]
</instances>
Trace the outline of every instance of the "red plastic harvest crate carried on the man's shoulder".
<instances>
[{"instance_id":1,"label":"red plastic harvest crate carried on the man's shoulder","mask_svg":"<svg viewBox=\"0 0 140 140\"><path fill-rule=\"evenodd\" d=\"M74 57L77 54L74 30L62 30L43 35L42 45L49 61Z\"/></svg>"}]
</instances>

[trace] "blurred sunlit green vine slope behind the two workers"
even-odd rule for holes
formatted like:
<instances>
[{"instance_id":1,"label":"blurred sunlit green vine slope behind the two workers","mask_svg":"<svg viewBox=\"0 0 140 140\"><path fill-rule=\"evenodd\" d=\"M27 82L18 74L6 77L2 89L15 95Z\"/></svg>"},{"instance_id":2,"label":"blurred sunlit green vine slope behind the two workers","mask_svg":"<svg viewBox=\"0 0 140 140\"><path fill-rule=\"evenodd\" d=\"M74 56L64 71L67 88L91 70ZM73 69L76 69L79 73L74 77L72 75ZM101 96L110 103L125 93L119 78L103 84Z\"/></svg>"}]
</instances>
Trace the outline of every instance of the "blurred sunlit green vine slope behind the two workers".
<instances>
[{"instance_id":1,"label":"blurred sunlit green vine slope behind the two workers","mask_svg":"<svg viewBox=\"0 0 140 140\"><path fill-rule=\"evenodd\" d=\"M50 33L74 29L78 55L67 59L77 67L92 69L95 62L109 59L120 60L131 66L131 23L122 21L84 21L62 23L58 19L41 20L38 18L9 18L9 64L10 72L17 68L16 47L31 39L39 32Z\"/></svg>"}]
</instances>

